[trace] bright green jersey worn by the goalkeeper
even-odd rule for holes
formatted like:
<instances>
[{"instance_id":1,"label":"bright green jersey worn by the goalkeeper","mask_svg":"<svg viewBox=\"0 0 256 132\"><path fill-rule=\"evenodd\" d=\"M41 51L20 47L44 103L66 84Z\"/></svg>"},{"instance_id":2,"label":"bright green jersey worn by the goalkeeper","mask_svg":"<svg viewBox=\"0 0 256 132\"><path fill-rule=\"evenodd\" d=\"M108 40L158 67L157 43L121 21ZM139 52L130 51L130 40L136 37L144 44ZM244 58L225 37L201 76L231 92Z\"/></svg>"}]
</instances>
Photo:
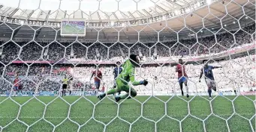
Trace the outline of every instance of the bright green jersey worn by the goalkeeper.
<instances>
[{"instance_id":1,"label":"bright green jersey worn by the goalkeeper","mask_svg":"<svg viewBox=\"0 0 256 132\"><path fill-rule=\"evenodd\" d=\"M131 81L134 86L140 85L140 81L134 81L135 66L131 63L131 60L126 60L122 67L122 72L119 74L119 79L122 83L127 85Z\"/></svg>"}]
</instances>

